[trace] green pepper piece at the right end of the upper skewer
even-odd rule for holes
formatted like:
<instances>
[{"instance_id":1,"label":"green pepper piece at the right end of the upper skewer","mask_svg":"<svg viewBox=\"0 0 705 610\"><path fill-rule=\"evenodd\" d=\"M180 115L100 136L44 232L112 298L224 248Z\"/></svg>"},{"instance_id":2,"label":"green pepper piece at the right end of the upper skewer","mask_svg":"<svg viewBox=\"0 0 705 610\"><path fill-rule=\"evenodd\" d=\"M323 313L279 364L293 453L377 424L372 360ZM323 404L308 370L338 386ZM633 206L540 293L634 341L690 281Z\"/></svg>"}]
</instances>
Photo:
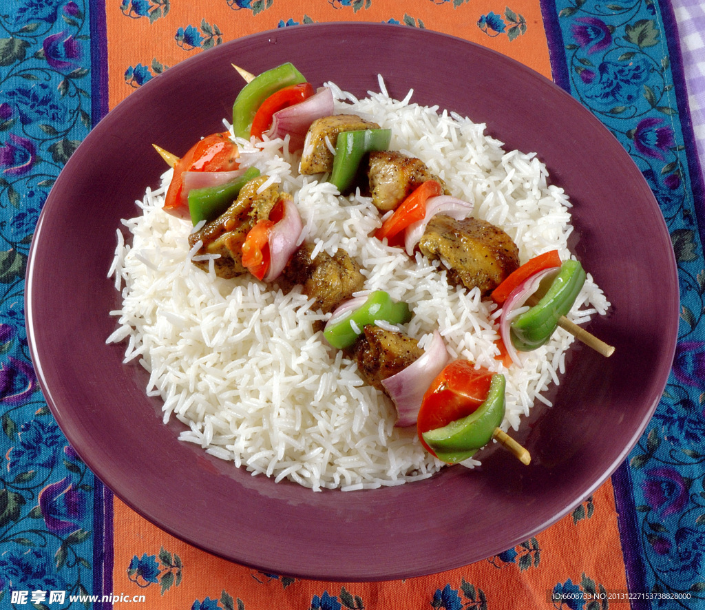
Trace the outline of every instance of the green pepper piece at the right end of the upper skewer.
<instances>
[{"instance_id":1,"label":"green pepper piece at the right end of the upper skewer","mask_svg":"<svg viewBox=\"0 0 705 610\"><path fill-rule=\"evenodd\" d=\"M585 278L582 264L577 260L567 260L560 265L558 275L539 303L518 315L510 324L512 343L517 350L535 350L551 338L558 319L570 312Z\"/></svg>"}]
</instances>

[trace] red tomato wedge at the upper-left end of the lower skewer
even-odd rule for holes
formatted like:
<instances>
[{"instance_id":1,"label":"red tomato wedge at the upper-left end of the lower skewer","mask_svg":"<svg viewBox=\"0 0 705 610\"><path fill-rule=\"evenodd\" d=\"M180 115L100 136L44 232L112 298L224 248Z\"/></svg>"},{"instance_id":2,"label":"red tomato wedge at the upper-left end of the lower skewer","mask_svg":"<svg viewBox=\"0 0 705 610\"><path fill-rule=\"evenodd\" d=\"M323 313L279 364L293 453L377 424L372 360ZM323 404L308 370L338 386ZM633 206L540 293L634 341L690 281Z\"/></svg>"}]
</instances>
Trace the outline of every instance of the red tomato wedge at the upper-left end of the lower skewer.
<instances>
[{"instance_id":1,"label":"red tomato wedge at the upper-left end of the lower skewer","mask_svg":"<svg viewBox=\"0 0 705 610\"><path fill-rule=\"evenodd\" d=\"M181 203L185 171L231 171L238 168L238 147L230 140L230 134L213 133L196 142L174 166L171 184L166 191L164 209L176 210ZM188 208L185 209L188 214Z\"/></svg>"}]
</instances>

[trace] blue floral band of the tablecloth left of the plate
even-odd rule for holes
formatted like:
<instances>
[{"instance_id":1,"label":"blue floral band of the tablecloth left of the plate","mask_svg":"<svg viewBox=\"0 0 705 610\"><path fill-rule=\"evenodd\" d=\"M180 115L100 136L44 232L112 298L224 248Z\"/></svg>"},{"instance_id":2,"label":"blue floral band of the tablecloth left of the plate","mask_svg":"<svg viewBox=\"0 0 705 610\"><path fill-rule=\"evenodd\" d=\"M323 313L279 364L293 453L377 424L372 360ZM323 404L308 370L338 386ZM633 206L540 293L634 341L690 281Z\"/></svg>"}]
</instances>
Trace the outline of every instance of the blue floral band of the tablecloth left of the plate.
<instances>
[{"instance_id":1,"label":"blue floral band of the tablecloth left of the plate","mask_svg":"<svg viewBox=\"0 0 705 610\"><path fill-rule=\"evenodd\" d=\"M39 392L23 291L44 200L93 124L90 15L82 0L12 4L0 33L0 607L22 592L57 602L55 592L63 608L84 608L68 596L99 592L93 544L102 525L93 516L103 487Z\"/></svg>"}]
</instances>

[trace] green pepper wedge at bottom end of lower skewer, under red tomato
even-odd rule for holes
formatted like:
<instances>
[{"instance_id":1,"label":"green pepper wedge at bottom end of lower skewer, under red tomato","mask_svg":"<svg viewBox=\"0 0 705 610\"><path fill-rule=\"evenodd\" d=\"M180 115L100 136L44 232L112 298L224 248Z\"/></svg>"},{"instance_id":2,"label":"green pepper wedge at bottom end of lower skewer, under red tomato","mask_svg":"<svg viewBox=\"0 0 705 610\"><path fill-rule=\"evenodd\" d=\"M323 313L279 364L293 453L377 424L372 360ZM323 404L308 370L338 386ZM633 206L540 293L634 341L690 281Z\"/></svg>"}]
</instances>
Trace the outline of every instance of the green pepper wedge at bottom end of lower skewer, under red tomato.
<instances>
[{"instance_id":1,"label":"green pepper wedge at bottom end of lower skewer, under red tomato","mask_svg":"<svg viewBox=\"0 0 705 610\"><path fill-rule=\"evenodd\" d=\"M504 419L505 386L504 375L494 374L482 405L460 420L422 434L439 460L457 464L474 456L491 441L495 429Z\"/></svg>"}]
</instances>

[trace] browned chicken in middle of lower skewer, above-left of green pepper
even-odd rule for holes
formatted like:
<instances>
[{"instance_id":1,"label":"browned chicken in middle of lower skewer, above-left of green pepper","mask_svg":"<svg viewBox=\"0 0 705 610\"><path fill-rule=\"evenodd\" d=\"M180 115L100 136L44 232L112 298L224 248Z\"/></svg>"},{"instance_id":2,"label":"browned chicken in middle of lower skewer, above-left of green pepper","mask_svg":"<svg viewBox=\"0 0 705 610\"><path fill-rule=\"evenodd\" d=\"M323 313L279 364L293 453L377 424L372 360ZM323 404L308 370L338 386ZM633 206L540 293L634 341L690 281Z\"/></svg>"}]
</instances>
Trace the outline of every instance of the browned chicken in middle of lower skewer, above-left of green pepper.
<instances>
[{"instance_id":1,"label":"browned chicken in middle of lower skewer, above-left of green pepper","mask_svg":"<svg viewBox=\"0 0 705 610\"><path fill-rule=\"evenodd\" d=\"M335 256L319 252L312 259L313 249L313 245L304 243L296 250L277 281L287 290L301 284L302 292L316 300L315 307L328 313L362 290L364 277L360 265L347 252L338 250Z\"/></svg>"}]
</instances>

